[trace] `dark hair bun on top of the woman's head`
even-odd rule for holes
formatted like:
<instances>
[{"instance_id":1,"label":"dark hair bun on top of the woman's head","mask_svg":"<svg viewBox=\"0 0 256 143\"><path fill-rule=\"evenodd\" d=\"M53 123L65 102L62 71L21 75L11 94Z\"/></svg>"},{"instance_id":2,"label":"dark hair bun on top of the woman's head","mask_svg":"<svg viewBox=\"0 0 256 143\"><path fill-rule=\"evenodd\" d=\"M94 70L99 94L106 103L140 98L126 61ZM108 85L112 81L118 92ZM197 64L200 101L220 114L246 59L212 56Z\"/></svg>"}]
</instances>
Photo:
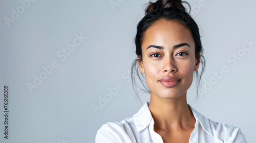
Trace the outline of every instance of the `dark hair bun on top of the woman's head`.
<instances>
[{"instance_id":1,"label":"dark hair bun on top of the woman's head","mask_svg":"<svg viewBox=\"0 0 256 143\"><path fill-rule=\"evenodd\" d=\"M159 8L168 8L168 7L176 7L179 9L186 10L185 7L182 5L181 0L159 0L155 3L150 2L146 8L145 14ZM185 2L186 3L186 2Z\"/></svg>"}]
</instances>

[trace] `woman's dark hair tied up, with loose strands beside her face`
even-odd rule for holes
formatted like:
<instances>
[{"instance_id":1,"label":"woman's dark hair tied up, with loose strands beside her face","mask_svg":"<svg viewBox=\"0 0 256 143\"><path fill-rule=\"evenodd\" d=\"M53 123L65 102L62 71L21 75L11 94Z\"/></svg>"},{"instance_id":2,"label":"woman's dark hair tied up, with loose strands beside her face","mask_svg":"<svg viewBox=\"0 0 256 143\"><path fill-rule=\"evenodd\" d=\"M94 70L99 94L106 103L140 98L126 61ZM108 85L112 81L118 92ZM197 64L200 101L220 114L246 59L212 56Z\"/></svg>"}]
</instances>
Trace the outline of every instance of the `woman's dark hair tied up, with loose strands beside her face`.
<instances>
[{"instance_id":1,"label":"woman's dark hair tied up, with loose strands beside her face","mask_svg":"<svg viewBox=\"0 0 256 143\"><path fill-rule=\"evenodd\" d=\"M148 27L150 27L153 23L160 19L165 20L179 20L183 23L184 26L186 26L194 39L195 42L195 53L196 58L200 58L200 63L202 64L202 70L199 75L198 70L196 72L197 77L197 97L199 92L199 87L201 86L200 81L202 78L203 71L205 69L205 58L203 56L203 47L201 43L201 37L199 33L199 28L197 23L194 21L194 19L186 12L185 7L182 5L182 3L185 3L189 6L189 13L190 13L190 5L187 2L182 2L181 0L176 1L157 1L155 3L150 2L145 10L145 16L139 21L137 25L137 34L135 37L135 45L136 45L136 54L139 56L138 59L135 59L132 63L132 70L131 70L131 76L132 76L132 85L133 89L136 93L136 96L139 98L136 87L140 87L138 83L136 83L135 77L133 75L133 70L135 68L136 74L139 77L139 80L142 84L142 86L145 89L141 88L145 92L149 92L150 90L145 86L145 84L141 81L142 79L145 79L142 73L138 70L138 61L142 61L142 50L141 45L143 42L143 38L145 36L145 31ZM200 64L200 65L201 65ZM142 75L143 78L140 77ZM194 77L195 78L195 77ZM194 79L193 78L193 79Z\"/></svg>"}]
</instances>

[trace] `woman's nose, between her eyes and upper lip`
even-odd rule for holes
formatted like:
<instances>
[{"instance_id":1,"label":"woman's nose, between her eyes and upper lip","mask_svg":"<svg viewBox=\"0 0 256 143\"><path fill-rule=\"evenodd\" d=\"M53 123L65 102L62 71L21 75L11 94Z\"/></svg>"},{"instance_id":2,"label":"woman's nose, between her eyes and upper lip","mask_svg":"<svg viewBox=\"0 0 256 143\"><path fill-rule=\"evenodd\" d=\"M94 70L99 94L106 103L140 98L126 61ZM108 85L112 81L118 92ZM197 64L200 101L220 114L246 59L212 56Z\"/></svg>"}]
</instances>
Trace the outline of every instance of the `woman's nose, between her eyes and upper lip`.
<instances>
[{"instance_id":1,"label":"woman's nose, between her eyes and upper lip","mask_svg":"<svg viewBox=\"0 0 256 143\"><path fill-rule=\"evenodd\" d=\"M178 70L176 62L172 56L166 57L163 60L163 70L164 73L175 73Z\"/></svg>"}]
</instances>

